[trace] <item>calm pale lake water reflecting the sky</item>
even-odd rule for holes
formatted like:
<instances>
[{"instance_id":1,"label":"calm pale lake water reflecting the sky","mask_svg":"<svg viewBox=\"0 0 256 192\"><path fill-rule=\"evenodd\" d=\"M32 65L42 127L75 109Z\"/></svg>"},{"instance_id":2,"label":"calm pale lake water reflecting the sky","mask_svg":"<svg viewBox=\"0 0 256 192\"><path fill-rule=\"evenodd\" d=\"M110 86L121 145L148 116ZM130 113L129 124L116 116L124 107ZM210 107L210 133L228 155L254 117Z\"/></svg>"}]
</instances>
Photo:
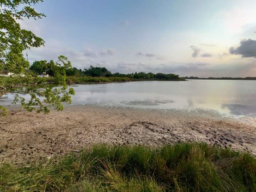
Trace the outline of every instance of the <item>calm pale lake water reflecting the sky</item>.
<instances>
[{"instance_id":1,"label":"calm pale lake water reflecting the sky","mask_svg":"<svg viewBox=\"0 0 256 192\"><path fill-rule=\"evenodd\" d=\"M73 105L204 110L256 117L256 81L250 80L142 81L72 87L76 92ZM13 96L6 97L1 100L9 104Z\"/></svg>"}]
</instances>

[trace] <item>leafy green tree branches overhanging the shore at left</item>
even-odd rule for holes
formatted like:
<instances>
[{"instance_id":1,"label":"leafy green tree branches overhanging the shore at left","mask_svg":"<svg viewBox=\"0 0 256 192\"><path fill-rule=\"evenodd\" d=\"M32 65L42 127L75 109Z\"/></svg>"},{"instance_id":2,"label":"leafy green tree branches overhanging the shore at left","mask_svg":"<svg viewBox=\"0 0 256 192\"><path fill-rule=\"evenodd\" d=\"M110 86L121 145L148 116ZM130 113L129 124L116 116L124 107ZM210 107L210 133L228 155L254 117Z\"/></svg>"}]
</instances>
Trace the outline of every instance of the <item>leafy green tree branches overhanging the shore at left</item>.
<instances>
[{"instance_id":1,"label":"leafy green tree branches overhanging the shore at left","mask_svg":"<svg viewBox=\"0 0 256 192\"><path fill-rule=\"evenodd\" d=\"M0 0L0 67L14 74L24 74L20 76L19 82L27 85L25 93L31 96L29 101L21 97L19 92L9 82L0 81L0 93L16 93L14 103L20 102L22 107L28 111L48 113L49 108L63 110L62 102L71 102L71 95L74 89L67 90L65 70L71 68L71 63L66 57L60 55L57 62L51 60L49 63L41 61L44 71L52 70L58 88L49 86L45 91L38 91L44 84L44 79L38 78L34 73L28 72L29 63L23 56L26 49L41 47L44 45L42 38L37 37L28 30L21 29L19 20L33 18L35 20L45 17L44 14L34 10L32 5L43 0ZM37 63L38 64L38 63ZM40 69L40 70L42 70ZM37 69L39 70L39 68ZM36 96L36 92L44 95L41 101ZM36 108L35 106L39 106ZM7 110L0 106L5 114Z\"/></svg>"}]
</instances>

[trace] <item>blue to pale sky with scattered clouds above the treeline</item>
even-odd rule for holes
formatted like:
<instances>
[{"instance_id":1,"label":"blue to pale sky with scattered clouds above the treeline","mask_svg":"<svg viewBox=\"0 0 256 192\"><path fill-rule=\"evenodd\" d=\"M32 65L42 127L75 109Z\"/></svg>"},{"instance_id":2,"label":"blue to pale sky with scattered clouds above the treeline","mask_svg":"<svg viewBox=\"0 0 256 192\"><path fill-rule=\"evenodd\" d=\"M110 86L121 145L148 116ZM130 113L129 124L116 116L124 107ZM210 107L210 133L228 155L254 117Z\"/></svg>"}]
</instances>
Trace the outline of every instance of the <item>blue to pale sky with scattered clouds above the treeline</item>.
<instances>
[{"instance_id":1,"label":"blue to pale sky with scattered clouds above the treeline","mask_svg":"<svg viewBox=\"0 0 256 192\"><path fill-rule=\"evenodd\" d=\"M256 76L255 0L44 0L21 27L44 39L28 59L65 55L78 69Z\"/></svg>"}]
</instances>

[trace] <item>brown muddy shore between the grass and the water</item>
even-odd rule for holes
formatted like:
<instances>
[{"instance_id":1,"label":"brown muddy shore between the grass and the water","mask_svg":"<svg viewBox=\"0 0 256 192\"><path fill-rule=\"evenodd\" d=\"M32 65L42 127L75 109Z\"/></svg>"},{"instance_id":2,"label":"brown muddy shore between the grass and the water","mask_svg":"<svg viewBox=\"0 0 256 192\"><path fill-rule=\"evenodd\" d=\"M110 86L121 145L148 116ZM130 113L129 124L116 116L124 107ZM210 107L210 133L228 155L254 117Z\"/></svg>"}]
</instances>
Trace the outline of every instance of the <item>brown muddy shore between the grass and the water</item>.
<instances>
[{"instance_id":1,"label":"brown muddy shore between the grass and the water","mask_svg":"<svg viewBox=\"0 0 256 192\"><path fill-rule=\"evenodd\" d=\"M24 110L11 113L0 118L0 162L29 163L95 143L206 142L256 155L256 126L236 119L93 106L66 107L48 115Z\"/></svg>"}]
</instances>

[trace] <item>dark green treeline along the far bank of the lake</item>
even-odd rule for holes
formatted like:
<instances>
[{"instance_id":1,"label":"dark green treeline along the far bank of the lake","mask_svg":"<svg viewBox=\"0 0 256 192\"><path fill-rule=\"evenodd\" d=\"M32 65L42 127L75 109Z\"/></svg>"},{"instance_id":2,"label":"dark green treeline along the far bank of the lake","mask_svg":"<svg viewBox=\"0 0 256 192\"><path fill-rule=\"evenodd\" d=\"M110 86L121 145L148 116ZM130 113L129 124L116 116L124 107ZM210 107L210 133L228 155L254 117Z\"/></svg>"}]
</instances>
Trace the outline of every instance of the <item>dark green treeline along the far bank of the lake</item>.
<instances>
[{"instance_id":1,"label":"dark green treeline along the far bank of the lake","mask_svg":"<svg viewBox=\"0 0 256 192\"><path fill-rule=\"evenodd\" d=\"M35 61L31 66L30 70L32 70L36 74L43 74L44 66L41 65L41 62ZM47 70L47 74L53 76L51 70ZM105 67L94 67L90 66L89 69L77 69L75 67L66 69L67 76L91 76L91 77L102 77L102 78L110 78L110 77L121 77L121 78L130 78L134 80L172 80L172 81L180 81L185 80L184 78L180 78L179 75L176 74L163 74L163 73L111 73L111 71L107 70Z\"/></svg>"}]
</instances>

